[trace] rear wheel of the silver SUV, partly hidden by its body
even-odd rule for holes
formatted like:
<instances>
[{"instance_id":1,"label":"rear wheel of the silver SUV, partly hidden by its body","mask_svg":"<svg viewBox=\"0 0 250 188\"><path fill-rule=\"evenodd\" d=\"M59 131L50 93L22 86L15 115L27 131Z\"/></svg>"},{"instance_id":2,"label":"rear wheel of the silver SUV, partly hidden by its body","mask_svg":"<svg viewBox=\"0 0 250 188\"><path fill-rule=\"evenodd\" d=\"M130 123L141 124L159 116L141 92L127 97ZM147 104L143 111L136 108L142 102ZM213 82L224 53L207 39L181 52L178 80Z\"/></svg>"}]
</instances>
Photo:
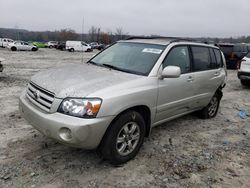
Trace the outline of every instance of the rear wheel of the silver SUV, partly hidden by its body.
<instances>
[{"instance_id":1,"label":"rear wheel of the silver SUV, partly hidden by its body","mask_svg":"<svg viewBox=\"0 0 250 188\"><path fill-rule=\"evenodd\" d=\"M219 93L215 93L208 105L202 110L198 111L198 116L202 119L215 117L220 106L221 97L222 95L220 95Z\"/></svg>"}]
</instances>

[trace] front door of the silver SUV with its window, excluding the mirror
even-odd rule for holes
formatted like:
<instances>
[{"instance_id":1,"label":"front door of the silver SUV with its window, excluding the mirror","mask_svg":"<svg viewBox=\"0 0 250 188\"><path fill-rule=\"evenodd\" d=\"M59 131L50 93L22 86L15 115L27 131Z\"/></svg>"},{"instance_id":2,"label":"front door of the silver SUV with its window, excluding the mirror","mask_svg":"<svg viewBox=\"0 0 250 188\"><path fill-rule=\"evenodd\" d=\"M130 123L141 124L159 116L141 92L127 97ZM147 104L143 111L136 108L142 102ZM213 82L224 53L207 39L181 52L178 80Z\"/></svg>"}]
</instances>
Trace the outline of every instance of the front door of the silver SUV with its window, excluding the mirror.
<instances>
[{"instance_id":1,"label":"front door of the silver SUV with its window, excluding the mirror","mask_svg":"<svg viewBox=\"0 0 250 188\"><path fill-rule=\"evenodd\" d=\"M191 58L188 46L173 47L163 61L162 67L169 65L181 68L179 78L159 79L159 92L155 122L160 123L175 115L190 111L193 103L194 74L191 72Z\"/></svg>"}]
</instances>

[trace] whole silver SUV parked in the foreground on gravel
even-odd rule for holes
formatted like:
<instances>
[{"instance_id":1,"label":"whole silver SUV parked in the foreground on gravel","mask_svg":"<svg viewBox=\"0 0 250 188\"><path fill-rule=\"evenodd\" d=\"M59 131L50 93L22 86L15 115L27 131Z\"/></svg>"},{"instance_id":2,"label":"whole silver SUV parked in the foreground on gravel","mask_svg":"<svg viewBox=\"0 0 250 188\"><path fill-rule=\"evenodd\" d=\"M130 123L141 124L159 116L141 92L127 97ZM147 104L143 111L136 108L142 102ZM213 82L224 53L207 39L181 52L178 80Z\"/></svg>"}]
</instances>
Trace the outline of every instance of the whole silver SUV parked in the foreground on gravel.
<instances>
[{"instance_id":1,"label":"whole silver SUV parked in the foreground on gravel","mask_svg":"<svg viewBox=\"0 0 250 188\"><path fill-rule=\"evenodd\" d=\"M33 76L20 112L48 137L124 163L136 156L152 127L191 112L216 116L225 67L215 46L131 38L87 63Z\"/></svg>"}]
</instances>

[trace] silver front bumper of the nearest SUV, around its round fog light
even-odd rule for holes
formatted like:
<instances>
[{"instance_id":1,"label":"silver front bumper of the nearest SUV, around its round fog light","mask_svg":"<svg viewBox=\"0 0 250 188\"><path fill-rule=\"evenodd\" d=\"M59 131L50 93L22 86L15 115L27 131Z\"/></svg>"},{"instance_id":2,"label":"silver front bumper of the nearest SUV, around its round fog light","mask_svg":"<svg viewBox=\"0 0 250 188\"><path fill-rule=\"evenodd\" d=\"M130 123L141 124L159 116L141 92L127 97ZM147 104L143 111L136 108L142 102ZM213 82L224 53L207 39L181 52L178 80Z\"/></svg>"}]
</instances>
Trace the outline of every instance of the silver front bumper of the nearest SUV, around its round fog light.
<instances>
[{"instance_id":1,"label":"silver front bumper of the nearest SUV, around its round fog light","mask_svg":"<svg viewBox=\"0 0 250 188\"><path fill-rule=\"evenodd\" d=\"M113 116L83 119L64 115L61 113L46 113L34 106L22 93L19 99L21 115L42 134L55 139L63 144L95 149L98 147ZM71 130L71 139L63 139L60 136L62 129Z\"/></svg>"}]
</instances>

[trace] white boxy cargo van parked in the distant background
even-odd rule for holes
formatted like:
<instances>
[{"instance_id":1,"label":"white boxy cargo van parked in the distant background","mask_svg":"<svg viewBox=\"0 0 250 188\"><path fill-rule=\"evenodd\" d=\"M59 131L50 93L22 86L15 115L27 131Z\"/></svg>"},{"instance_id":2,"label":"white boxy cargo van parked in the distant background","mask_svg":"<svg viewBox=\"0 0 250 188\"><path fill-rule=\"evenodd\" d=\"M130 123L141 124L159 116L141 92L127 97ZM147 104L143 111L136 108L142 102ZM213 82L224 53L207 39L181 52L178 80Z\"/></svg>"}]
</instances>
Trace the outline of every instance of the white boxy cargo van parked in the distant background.
<instances>
[{"instance_id":1,"label":"white boxy cargo van parked in the distant background","mask_svg":"<svg viewBox=\"0 0 250 188\"><path fill-rule=\"evenodd\" d=\"M91 51L91 46L82 41L66 41L66 50L70 52L74 51L83 51L89 52Z\"/></svg>"}]
</instances>

